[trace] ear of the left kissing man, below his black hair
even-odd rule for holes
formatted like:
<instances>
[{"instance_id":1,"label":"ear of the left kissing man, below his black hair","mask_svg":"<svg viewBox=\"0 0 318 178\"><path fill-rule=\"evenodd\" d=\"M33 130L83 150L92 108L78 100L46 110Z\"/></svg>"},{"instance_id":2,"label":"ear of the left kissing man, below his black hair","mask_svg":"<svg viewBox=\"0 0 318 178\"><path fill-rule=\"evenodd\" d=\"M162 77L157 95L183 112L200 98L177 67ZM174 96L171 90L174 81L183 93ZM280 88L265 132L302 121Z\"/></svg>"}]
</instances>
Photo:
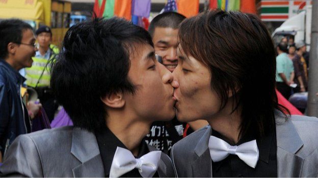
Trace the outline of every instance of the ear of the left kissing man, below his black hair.
<instances>
[{"instance_id":1,"label":"ear of the left kissing man, below his black hair","mask_svg":"<svg viewBox=\"0 0 318 178\"><path fill-rule=\"evenodd\" d=\"M110 108L122 108L125 105L125 99L122 92L116 92L100 97L101 101Z\"/></svg>"}]
</instances>

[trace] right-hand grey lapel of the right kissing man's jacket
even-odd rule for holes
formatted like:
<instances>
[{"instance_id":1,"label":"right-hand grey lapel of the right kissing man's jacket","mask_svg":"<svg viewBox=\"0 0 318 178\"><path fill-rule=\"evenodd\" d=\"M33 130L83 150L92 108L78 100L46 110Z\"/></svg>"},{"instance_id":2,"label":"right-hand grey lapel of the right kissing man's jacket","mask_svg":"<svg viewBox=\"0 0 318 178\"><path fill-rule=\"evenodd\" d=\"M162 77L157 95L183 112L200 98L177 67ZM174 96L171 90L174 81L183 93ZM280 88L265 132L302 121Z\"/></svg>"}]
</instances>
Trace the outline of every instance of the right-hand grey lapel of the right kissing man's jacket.
<instances>
[{"instance_id":1,"label":"right-hand grey lapel of the right kissing man's jacket","mask_svg":"<svg viewBox=\"0 0 318 178\"><path fill-rule=\"evenodd\" d=\"M304 159L295 155L304 145L292 121L279 112L276 117L277 176L300 177Z\"/></svg>"}]
</instances>

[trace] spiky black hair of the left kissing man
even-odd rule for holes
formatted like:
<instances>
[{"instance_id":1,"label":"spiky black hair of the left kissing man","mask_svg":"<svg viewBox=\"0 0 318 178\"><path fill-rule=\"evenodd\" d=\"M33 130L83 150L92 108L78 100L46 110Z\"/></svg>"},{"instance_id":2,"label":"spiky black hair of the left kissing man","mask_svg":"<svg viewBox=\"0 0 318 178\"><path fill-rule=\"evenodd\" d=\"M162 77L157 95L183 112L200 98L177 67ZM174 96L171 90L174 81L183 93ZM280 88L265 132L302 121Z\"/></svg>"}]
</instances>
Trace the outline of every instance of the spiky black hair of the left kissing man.
<instances>
[{"instance_id":1,"label":"spiky black hair of the left kissing man","mask_svg":"<svg viewBox=\"0 0 318 178\"><path fill-rule=\"evenodd\" d=\"M116 17L78 23L66 32L57 61L51 61L50 82L74 126L99 131L107 118L101 97L134 94L127 75L130 53L138 44L153 47L149 33Z\"/></svg>"}]
</instances>

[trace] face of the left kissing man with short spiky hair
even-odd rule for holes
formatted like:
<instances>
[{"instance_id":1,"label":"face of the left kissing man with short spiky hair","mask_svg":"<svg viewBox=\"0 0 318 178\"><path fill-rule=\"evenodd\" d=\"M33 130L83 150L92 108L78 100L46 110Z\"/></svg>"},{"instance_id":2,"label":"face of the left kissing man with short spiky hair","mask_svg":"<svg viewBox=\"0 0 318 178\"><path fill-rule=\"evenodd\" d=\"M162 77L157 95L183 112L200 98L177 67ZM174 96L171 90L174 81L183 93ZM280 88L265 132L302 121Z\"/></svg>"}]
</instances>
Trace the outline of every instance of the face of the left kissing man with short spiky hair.
<instances>
[{"instance_id":1,"label":"face of the left kissing man with short spiky hair","mask_svg":"<svg viewBox=\"0 0 318 178\"><path fill-rule=\"evenodd\" d=\"M136 88L135 94L125 96L126 107L134 117L152 122L175 116L172 73L155 59L150 45L137 44L130 54L128 79Z\"/></svg>"}]
</instances>

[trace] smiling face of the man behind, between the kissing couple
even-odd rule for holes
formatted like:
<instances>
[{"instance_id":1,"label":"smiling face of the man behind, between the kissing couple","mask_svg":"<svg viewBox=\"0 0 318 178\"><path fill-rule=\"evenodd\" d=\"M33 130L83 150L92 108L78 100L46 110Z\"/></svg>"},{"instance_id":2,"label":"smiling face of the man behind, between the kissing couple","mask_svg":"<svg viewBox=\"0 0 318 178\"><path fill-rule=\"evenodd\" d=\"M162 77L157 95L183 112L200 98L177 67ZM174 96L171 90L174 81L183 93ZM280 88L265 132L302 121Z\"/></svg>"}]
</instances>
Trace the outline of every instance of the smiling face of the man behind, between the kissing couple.
<instances>
[{"instance_id":1,"label":"smiling face of the man behind, between the kissing couple","mask_svg":"<svg viewBox=\"0 0 318 178\"><path fill-rule=\"evenodd\" d=\"M178 64L177 36L178 29L156 27L152 37L156 54L162 57L164 66L167 67L170 72L173 72Z\"/></svg>"}]
</instances>

